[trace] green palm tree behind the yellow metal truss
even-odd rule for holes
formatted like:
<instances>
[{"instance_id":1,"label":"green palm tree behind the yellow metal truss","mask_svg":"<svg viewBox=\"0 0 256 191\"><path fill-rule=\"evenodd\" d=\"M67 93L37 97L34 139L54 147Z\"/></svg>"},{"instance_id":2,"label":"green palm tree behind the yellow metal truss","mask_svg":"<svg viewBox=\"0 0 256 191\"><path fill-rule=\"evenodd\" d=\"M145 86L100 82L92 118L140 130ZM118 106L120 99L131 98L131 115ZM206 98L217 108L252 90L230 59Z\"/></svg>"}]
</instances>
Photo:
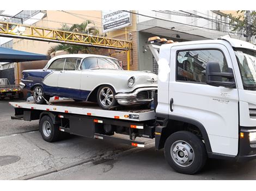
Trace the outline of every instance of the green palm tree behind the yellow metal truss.
<instances>
[{"instance_id":1,"label":"green palm tree behind the yellow metal truss","mask_svg":"<svg viewBox=\"0 0 256 191\"><path fill-rule=\"evenodd\" d=\"M84 21L81 24L73 24L71 27L69 27L67 24L62 24L62 28L60 28L59 30L89 34L94 36L98 35L99 30L96 27L89 26L89 24L94 23L92 21ZM78 52L88 54L94 52L95 48L73 44L59 44L48 49L47 54L50 55L58 50L64 50L70 54L77 54Z\"/></svg>"}]
</instances>

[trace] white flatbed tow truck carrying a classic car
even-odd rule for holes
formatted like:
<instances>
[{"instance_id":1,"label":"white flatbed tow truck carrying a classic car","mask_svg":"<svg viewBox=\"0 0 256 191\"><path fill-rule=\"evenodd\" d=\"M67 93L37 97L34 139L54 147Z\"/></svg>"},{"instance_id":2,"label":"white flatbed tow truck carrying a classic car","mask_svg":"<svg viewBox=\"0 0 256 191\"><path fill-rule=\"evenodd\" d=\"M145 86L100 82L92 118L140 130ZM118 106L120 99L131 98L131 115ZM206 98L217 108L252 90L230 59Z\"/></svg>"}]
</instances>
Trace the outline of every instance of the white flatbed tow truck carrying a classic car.
<instances>
[{"instance_id":1,"label":"white flatbed tow truck carrying a classic car","mask_svg":"<svg viewBox=\"0 0 256 191\"><path fill-rule=\"evenodd\" d=\"M12 118L39 119L41 136L48 142L72 133L145 147L136 137L155 138L155 148L164 148L169 165L185 174L197 173L208 157L256 158L256 46L230 38L149 41L159 64L154 109L106 111L70 100L51 105L10 102L15 107Z\"/></svg>"}]
</instances>

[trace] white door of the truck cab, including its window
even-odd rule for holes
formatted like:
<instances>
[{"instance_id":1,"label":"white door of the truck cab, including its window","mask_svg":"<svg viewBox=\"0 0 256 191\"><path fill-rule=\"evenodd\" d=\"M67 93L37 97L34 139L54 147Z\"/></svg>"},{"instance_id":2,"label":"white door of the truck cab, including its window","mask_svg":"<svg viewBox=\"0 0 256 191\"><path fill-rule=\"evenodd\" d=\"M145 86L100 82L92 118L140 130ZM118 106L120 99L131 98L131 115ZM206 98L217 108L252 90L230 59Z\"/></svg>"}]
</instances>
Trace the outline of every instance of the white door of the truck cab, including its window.
<instances>
[{"instance_id":1,"label":"white door of the truck cab, including its window","mask_svg":"<svg viewBox=\"0 0 256 191\"><path fill-rule=\"evenodd\" d=\"M170 51L169 106L172 111L169 109L169 118L196 120L204 126L212 152L237 155L237 88L210 86L205 78L208 62L217 61L221 72L233 68L228 49L217 43L177 44Z\"/></svg>"}]
</instances>

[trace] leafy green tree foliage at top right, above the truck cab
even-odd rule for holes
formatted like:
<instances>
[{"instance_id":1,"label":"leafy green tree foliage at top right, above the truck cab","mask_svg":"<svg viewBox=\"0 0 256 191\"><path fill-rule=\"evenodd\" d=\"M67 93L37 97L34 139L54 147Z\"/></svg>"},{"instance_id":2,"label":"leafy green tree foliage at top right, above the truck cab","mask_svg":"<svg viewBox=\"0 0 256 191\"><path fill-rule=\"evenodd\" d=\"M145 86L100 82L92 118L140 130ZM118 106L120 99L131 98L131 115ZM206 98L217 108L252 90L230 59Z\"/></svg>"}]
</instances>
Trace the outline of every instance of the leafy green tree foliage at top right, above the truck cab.
<instances>
[{"instance_id":1,"label":"leafy green tree foliage at top right, above the truck cab","mask_svg":"<svg viewBox=\"0 0 256 191\"><path fill-rule=\"evenodd\" d=\"M247 21L245 15L245 10L236 11L239 13L239 16L233 16L231 14L229 16L230 20L230 27L232 31L239 31L240 33L246 34L248 31L249 35L255 36L256 35L256 11L251 11L251 22Z\"/></svg>"}]
</instances>

